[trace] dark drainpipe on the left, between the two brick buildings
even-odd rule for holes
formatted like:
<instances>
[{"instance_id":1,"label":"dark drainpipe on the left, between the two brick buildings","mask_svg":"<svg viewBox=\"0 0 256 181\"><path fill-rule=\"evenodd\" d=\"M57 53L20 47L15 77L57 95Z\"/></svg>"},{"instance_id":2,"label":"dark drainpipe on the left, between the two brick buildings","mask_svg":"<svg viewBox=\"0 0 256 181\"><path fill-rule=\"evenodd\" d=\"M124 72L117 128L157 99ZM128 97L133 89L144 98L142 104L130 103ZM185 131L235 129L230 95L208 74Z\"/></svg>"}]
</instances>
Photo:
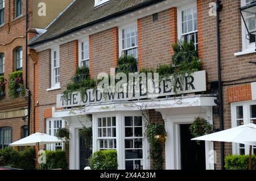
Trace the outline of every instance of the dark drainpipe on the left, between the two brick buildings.
<instances>
[{"instance_id":1,"label":"dark drainpipe on the left, between the two brick buildings","mask_svg":"<svg viewBox=\"0 0 256 181\"><path fill-rule=\"evenodd\" d=\"M25 89L28 94L28 99L27 99L27 105L28 105L28 114L27 114L27 133L28 136L30 136L30 109L31 109L31 91L28 89L28 0L26 0L26 83L25 83Z\"/></svg>"}]
</instances>

